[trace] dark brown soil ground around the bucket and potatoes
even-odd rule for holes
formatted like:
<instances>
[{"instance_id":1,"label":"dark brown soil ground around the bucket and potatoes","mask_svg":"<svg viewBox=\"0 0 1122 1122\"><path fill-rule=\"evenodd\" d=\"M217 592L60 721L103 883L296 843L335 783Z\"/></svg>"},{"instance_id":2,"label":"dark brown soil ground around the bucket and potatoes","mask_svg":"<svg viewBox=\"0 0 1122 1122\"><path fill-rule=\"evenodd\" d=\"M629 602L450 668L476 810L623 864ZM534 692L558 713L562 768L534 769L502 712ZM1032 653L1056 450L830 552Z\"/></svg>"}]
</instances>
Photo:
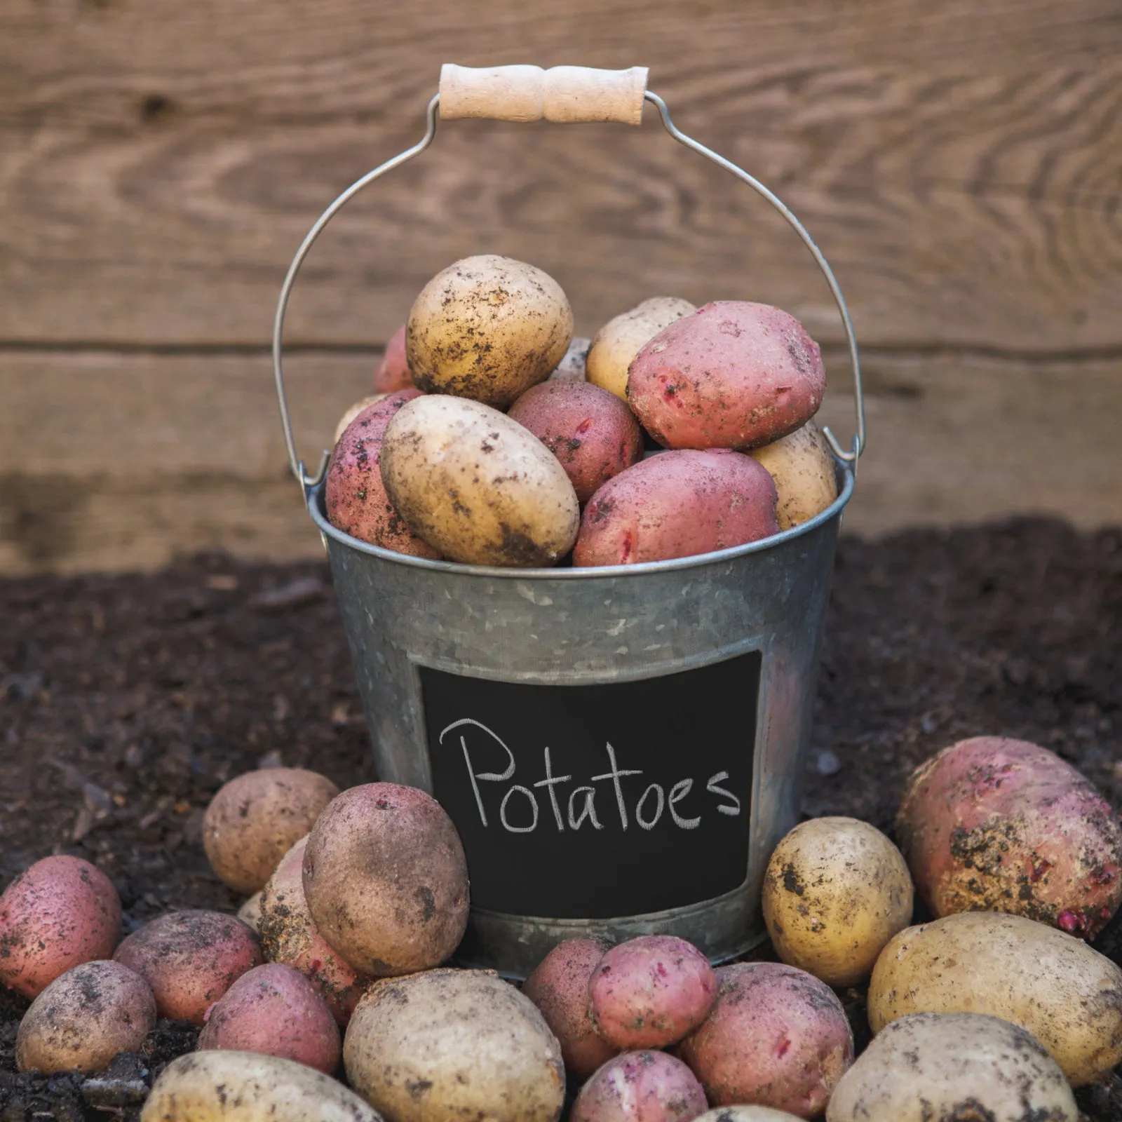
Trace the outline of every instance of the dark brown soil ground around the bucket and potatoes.
<instances>
[{"instance_id":1,"label":"dark brown soil ground around the bucket and potatoes","mask_svg":"<svg viewBox=\"0 0 1122 1122\"><path fill-rule=\"evenodd\" d=\"M0 582L0 885L72 853L113 880L127 931L174 908L232 911L200 845L224 780L269 763L373 778L323 565L205 557ZM843 541L807 813L890 828L909 770L981 733L1046 745L1122 808L1122 530ZM861 1030L861 995L844 996ZM193 1043L163 1023L100 1080L19 1076L24 1008L0 991L0 1122L136 1119L130 1096ZM1122 1120L1122 1080L1079 1097L1095 1122Z\"/></svg>"}]
</instances>

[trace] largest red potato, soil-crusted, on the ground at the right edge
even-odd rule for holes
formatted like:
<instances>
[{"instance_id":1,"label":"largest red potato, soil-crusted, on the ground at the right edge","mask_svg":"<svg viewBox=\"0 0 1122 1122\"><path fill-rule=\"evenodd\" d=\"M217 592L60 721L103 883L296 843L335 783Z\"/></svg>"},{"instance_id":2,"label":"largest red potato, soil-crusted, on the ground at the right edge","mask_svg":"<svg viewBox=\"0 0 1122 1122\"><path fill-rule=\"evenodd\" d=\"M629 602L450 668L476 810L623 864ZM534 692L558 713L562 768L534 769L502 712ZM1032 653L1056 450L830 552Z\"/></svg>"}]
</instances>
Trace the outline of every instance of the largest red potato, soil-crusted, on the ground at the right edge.
<instances>
[{"instance_id":1,"label":"largest red potato, soil-crusted, on the ground at the right edge","mask_svg":"<svg viewBox=\"0 0 1122 1122\"><path fill-rule=\"evenodd\" d=\"M1122 902L1122 828L1070 764L975 736L911 776L896 836L936 917L1003 911L1092 939Z\"/></svg>"}]
</instances>

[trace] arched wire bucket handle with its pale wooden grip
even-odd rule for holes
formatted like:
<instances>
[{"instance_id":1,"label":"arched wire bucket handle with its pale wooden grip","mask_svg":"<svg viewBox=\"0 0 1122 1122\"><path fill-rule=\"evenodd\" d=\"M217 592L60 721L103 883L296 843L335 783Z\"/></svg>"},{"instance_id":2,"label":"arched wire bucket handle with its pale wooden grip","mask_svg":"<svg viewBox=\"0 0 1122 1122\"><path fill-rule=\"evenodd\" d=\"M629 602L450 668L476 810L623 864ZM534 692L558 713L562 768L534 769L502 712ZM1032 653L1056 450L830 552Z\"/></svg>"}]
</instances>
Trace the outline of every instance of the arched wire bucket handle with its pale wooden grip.
<instances>
[{"instance_id":1,"label":"arched wire bucket handle with its pale wooden grip","mask_svg":"<svg viewBox=\"0 0 1122 1122\"><path fill-rule=\"evenodd\" d=\"M284 339L284 318L288 307L292 286L300 272L304 258L323 232L323 228L342 208L351 201L365 186L374 183L387 172L408 163L427 148L436 135L438 111L441 120L457 120L466 117L484 117L505 121L550 120L558 122L577 121L618 121L625 125L638 125L643 114L643 103L650 102L659 111L663 128L681 145L705 156L718 167L735 175L746 183L756 194L772 204L787 219L788 224L802 239L818 263L826 277L826 283L834 294L842 325L845 329L849 347L849 367L853 371L854 406L857 417L857 432L848 449L842 447L838 439L824 426L822 435L829 441L835 457L854 470L857 460L865 450L865 398L861 384L861 360L857 357L857 339L849 318L849 309L842 288L834 276L821 250L815 245L802 223L787 205L758 180L732 160L725 159L703 144L682 132L670 119L666 103L656 93L646 89L646 67L633 66L624 71L594 70L588 66L553 66L543 71L540 66L493 66L469 67L445 63L441 67L440 90L429 102L426 111L426 128L424 136L412 148L398 153L385 164L367 172L356 180L330 206L316 219L306 237L296 250L296 256L288 266L288 273L280 286L277 298L276 316L273 321L273 380L276 385L277 403L280 406L280 425L284 429L285 447L288 451L288 467L296 477L306 495L309 488L316 487L323 480L328 469L330 451L324 451L320 466L314 475L304 469L304 461L296 454L296 443L292 432L292 420L288 415L288 401L284 389L284 369L282 351Z\"/></svg>"}]
</instances>

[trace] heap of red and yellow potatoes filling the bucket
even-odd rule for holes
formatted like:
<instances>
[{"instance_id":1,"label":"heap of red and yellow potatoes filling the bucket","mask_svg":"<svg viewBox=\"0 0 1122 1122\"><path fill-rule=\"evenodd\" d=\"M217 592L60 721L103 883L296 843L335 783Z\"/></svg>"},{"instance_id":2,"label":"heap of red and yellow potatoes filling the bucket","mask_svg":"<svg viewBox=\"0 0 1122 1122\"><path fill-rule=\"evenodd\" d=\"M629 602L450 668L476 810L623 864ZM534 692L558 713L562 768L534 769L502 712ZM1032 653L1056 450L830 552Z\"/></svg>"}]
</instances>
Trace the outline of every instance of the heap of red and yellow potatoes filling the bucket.
<instances>
[{"instance_id":1,"label":"heap of red and yellow potatoes filling the bucket","mask_svg":"<svg viewBox=\"0 0 1122 1122\"><path fill-rule=\"evenodd\" d=\"M590 567L742 545L837 498L821 355L787 312L660 296L572 330L532 265L433 277L339 423L331 524L422 558Z\"/></svg>"}]
</instances>

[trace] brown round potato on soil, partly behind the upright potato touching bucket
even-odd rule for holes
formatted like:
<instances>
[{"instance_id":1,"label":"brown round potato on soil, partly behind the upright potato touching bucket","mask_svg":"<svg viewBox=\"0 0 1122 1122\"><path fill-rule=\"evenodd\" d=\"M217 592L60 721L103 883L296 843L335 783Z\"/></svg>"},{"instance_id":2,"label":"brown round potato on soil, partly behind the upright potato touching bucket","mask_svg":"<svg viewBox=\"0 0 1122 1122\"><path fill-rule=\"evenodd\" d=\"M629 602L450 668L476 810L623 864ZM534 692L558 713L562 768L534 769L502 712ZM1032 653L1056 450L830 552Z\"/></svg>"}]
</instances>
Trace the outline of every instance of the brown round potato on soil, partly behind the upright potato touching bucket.
<instances>
[{"instance_id":1,"label":"brown round potato on soil, partly behind the upright potato touching bucket","mask_svg":"<svg viewBox=\"0 0 1122 1122\"><path fill-rule=\"evenodd\" d=\"M234 892L259 892L280 858L339 793L303 767L264 767L224 783L203 816L203 849Z\"/></svg>"}]
</instances>

